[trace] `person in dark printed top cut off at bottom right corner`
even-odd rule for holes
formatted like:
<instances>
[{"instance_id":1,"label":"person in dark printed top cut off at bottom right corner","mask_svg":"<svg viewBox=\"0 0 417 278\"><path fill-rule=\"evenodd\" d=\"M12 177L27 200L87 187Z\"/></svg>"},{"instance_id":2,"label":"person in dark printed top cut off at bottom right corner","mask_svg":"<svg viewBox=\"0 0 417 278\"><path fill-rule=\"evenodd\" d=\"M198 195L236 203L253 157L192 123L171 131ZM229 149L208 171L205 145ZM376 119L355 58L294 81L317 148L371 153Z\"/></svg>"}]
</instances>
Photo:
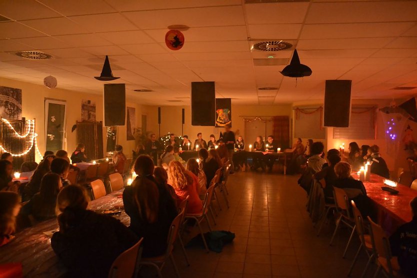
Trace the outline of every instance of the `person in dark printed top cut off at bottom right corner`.
<instances>
[{"instance_id":1,"label":"person in dark printed top cut off at bottom right corner","mask_svg":"<svg viewBox=\"0 0 417 278\"><path fill-rule=\"evenodd\" d=\"M412 220L402 224L389 237L393 256L398 257L401 273L417 277L417 197L410 201Z\"/></svg>"}]
</instances>

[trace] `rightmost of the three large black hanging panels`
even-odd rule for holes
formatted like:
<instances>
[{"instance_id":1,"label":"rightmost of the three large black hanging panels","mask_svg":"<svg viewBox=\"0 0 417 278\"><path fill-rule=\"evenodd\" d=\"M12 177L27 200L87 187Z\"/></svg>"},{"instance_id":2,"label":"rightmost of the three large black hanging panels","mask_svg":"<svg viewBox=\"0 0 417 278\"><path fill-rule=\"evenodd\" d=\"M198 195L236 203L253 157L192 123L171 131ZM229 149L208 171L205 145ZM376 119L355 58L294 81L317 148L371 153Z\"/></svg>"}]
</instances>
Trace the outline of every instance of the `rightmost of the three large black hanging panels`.
<instances>
[{"instance_id":1,"label":"rightmost of the three large black hanging panels","mask_svg":"<svg viewBox=\"0 0 417 278\"><path fill-rule=\"evenodd\" d=\"M348 127L352 80L326 80L324 126Z\"/></svg>"}]
</instances>

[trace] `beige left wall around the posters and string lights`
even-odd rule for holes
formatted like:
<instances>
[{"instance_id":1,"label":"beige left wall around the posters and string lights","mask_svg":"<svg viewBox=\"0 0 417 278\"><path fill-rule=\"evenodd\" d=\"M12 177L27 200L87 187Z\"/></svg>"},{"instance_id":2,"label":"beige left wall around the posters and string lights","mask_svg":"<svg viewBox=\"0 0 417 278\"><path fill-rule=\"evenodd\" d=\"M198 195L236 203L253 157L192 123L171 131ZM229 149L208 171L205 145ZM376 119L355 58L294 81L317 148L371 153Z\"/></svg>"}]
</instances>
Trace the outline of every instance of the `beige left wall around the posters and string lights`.
<instances>
[{"instance_id":1,"label":"beige left wall around the posters and string lights","mask_svg":"<svg viewBox=\"0 0 417 278\"><path fill-rule=\"evenodd\" d=\"M43 85L36 85L32 83L21 82L17 80L11 80L0 77L0 85L19 88L22 90L22 116L27 119L35 119L35 132L38 134L37 142L40 152L43 154L45 151L45 123L44 123L44 100L45 98L53 98L66 101L66 150L72 152L76 145L76 130L71 132L71 127L75 124L76 120L81 120L81 99L89 99L95 101L96 104L96 120L103 120L103 99L100 94L88 94L76 91L69 91L59 89L49 89ZM136 108L136 125L141 126L140 115L142 113L141 105L133 102L126 102L127 106ZM106 134L105 128L103 134ZM126 126L120 126L118 128L117 143L123 145L125 153L131 156L131 149L134 148L134 141L126 141ZM103 138L103 145L105 151L105 136ZM39 160L39 157L36 157Z\"/></svg>"}]
</instances>

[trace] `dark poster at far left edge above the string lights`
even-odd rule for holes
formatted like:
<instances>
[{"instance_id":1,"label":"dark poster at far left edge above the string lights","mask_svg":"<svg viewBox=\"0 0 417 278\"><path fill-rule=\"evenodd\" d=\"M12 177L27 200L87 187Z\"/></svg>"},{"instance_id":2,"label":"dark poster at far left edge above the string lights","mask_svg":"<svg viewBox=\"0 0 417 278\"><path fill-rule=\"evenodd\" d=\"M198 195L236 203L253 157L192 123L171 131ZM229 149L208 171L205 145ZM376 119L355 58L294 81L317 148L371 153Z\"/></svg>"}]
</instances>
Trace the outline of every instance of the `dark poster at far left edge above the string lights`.
<instances>
[{"instance_id":1,"label":"dark poster at far left edge above the string lights","mask_svg":"<svg viewBox=\"0 0 417 278\"><path fill-rule=\"evenodd\" d=\"M0 86L0 116L21 119L21 89Z\"/></svg>"}]
</instances>

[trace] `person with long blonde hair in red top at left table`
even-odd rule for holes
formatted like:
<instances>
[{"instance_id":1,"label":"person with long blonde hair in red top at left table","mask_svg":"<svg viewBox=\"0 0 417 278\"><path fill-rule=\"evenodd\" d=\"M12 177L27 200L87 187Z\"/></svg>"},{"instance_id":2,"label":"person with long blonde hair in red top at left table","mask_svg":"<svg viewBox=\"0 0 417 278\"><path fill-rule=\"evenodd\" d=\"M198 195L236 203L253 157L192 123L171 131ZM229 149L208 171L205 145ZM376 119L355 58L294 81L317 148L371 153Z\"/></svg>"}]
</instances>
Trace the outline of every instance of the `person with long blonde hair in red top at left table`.
<instances>
[{"instance_id":1,"label":"person with long blonde hair in red top at left table","mask_svg":"<svg viewBox=\"0 0 417 278\"><path fill-rule=\"evenodd\" d=\"M187 213L200 213L202 202L198 196L198 178L190 171L187 171L179 162L172 160L168 165L168 180L178 196L178 201L188 197Z\"/></svg>"}]
</instances>

